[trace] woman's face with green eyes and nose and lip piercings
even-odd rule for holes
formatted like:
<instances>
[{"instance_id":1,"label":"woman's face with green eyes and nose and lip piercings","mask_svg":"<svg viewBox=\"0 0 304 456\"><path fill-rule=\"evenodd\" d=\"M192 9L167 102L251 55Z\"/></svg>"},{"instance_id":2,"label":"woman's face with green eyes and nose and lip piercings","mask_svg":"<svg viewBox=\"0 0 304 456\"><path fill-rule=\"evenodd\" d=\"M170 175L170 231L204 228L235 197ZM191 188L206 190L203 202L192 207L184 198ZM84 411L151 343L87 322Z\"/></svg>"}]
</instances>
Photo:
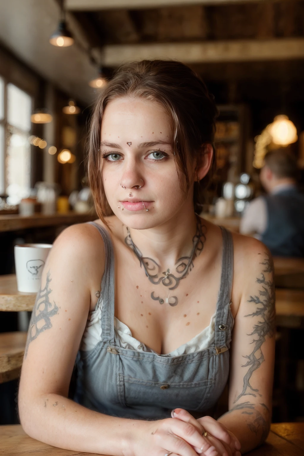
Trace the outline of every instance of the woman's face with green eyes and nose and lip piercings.
<instances>
[{"instance_id":1,"label":"woman's face with green eyes and nose and lip piercings","mask_svg":"<svg viewBox=\"0 0 304 456\"><path fill-rule=\"evenodd\" d=\"M130 228L158 226L192 204L192 194L185 202L180 188L170 123L160 104L129 97L109 102L99 150L108 203Z\"/></svg>"}]
</instances>

